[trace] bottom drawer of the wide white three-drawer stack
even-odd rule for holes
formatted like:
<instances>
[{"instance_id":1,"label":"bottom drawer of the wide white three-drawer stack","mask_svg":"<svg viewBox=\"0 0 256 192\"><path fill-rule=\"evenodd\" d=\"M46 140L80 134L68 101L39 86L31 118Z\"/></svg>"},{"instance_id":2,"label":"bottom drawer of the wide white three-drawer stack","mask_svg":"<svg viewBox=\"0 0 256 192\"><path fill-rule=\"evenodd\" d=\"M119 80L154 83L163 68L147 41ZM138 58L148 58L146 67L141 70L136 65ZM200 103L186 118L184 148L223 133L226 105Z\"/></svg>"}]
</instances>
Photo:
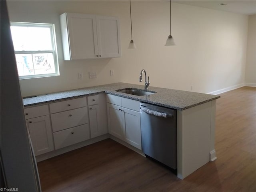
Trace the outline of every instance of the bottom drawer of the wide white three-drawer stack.
<instances>
[{"instance_id":1,"label":"bottom drawer of the wide white three-drawer stack","mask_svg":"<svg viewBox=\"0 0 256 192\"><path fill-rule=\"evenodd\" d=\"M89 125L81 125L53 133L55 149L90 139Z\"/></svg>"}]
</instances>

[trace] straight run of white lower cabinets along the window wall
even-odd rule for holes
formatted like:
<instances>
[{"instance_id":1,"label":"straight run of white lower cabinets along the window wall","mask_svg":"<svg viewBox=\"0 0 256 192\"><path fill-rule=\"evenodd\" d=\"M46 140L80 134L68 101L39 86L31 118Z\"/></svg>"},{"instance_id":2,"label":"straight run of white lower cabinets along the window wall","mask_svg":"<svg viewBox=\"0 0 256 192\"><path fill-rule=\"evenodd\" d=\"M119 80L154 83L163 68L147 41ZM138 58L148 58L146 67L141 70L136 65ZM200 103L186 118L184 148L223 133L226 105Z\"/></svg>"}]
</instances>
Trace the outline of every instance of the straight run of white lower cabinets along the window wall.
<instances>
[{"instance_id":1,"label":"straight run of white lower cabinets along the window wall","mask_svg":"<svg viewBox=\"0 0 256 192\"><path fill-rule=\"evenodd\" d=\"M108 133L106 94L25 108L36 156Z\"/></svg>"}]
</instances>

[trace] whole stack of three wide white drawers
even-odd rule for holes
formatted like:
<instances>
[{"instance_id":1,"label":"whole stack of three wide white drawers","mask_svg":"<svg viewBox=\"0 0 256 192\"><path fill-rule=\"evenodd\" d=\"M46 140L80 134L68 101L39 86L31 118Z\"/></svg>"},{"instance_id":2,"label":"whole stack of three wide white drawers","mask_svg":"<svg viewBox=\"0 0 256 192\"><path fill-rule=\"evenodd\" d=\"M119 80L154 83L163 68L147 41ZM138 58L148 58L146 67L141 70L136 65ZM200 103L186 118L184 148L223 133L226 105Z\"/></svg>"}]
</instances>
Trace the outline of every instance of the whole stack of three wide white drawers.
<instances>
[{"instance_id":1,"label":"whole stack of three wide white drawers","mask_svg":"<svg viewBox=\"0 0 256 192\"><path fill-rule=\"evenodd\" d=\"M87 98L49 104L55 149L90 139Z\"/></svg>"}]
</instances>

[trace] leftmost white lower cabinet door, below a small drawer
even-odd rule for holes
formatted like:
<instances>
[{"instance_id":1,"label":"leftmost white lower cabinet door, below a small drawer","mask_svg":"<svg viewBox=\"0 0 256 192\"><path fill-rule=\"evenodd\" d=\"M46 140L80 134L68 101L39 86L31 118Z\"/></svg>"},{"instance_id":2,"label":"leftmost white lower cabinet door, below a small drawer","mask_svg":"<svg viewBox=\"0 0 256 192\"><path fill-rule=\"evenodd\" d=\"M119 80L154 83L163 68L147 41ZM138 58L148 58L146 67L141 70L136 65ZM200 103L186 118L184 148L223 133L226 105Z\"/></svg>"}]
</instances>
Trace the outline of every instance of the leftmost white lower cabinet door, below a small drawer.
<instances>
[{"instance_id":1,"label":"leftmost white lower cabinet door, below a small drawer","mask_svg":"<svg viewBox=\"0 0 256 192\"><path fill-rule=\"evenodd\" d=\"M28 130L35 155L54 150L52 129L48 115L28 119Z\"/></svg>"}]
</instances>

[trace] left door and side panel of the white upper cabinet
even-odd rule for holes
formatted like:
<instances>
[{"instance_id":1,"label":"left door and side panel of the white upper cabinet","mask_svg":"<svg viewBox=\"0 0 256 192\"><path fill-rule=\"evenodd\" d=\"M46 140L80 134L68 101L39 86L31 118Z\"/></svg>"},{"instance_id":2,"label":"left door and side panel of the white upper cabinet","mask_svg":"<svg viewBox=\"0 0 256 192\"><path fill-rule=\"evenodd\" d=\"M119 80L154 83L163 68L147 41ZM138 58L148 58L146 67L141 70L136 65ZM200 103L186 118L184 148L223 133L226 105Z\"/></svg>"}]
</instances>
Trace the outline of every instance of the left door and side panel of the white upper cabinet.
<instances>
[{"instance_id":1,"label":"left door and side panel of the white upper cabinet","mask_svg":"<svg viewBox=\"0 0 256 192\"><path fill-rule=\"evenodd\" d=\"M96 58L96 16L64 13L60 16L64 60Z\"/></svg>"}]
</instances>

